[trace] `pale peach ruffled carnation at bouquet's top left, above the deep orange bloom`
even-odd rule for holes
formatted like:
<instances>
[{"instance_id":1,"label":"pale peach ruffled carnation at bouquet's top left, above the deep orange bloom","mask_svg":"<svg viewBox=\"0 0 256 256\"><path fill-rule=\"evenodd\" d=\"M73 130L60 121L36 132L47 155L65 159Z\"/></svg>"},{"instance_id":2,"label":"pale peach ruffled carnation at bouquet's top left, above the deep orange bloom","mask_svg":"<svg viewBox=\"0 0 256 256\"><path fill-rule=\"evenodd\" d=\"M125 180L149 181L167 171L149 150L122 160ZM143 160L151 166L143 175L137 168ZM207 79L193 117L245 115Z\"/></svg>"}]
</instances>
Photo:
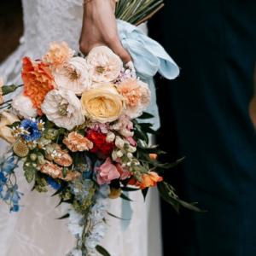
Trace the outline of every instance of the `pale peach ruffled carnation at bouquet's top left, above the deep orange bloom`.
<instances>
[{"instance_id":1,"label":"pale peach ruffled carnation at bouquet's top left, above the deep orange bloom","mask_svg":"<svg viewBox=\"0 0 256 256\"><path fill-rule=\"evenodd\" d=\"M53 42L49 45L47 54L43 56L43 61L56 68L69 61L73 54L74 51L68 47L67 43Z\"/></svg>"}]
</instances>

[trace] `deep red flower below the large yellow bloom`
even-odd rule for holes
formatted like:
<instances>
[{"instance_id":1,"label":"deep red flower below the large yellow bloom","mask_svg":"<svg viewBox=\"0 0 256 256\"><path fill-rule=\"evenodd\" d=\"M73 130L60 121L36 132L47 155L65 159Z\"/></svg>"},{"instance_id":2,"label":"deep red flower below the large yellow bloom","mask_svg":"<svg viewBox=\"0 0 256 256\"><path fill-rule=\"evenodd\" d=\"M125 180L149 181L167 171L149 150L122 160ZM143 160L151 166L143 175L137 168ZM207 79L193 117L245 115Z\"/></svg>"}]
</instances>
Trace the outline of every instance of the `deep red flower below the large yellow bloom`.
<instances>
[{"instance_id":1,"label":"deep red flower below the large yellow bloom","mask_svg":"<svg viewBox=\"0 0 256 256\"><path fill-rule=\"evenodd\" d=\"M93 143L93 148L90 149L90 152L102 154L104 157L112 154L114 144L106 141L106 134L100 131L90 130L87 132L86 137Z\"/></svg>"}]
</instances>

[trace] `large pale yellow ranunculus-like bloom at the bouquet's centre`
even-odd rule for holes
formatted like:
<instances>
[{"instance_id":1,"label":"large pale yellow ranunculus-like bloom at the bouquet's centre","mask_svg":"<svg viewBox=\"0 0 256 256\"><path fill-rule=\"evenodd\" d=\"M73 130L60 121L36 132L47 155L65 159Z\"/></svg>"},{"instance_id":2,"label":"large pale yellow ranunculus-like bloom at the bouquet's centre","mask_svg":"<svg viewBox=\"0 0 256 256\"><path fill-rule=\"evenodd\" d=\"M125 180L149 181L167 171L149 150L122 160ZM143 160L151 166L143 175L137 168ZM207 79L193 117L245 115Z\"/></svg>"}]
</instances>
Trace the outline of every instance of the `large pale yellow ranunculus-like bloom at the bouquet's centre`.
<instances>
[{"instance_id":1,"label":"large pale yellow ranunculus-like bloom at the bouquet's centre","mask_svg":"<svg viewBox=\"0 0 256 256\"><path fill-rule=\"evenodd\" d=\"M101 84L85 91L81 103L84 115L100 123L118 119L125 108L124 98L119 95L113 84Z\"/></svg>"}]
</instances>

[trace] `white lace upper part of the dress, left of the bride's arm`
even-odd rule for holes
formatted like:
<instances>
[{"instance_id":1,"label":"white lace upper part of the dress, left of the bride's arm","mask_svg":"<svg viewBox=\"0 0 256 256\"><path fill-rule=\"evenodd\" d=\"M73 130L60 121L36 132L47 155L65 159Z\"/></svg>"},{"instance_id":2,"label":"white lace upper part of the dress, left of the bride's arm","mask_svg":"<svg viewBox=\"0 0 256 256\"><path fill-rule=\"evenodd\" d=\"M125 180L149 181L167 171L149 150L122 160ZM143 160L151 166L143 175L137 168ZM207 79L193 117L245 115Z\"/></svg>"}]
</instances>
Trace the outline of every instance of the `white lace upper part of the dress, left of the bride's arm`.
<instances>
[{"instance_id":1,"label":"white lace upper part of the dress, left of the bride's arm","mask_svg":"<svg viewBox=\"0 0 256 256\"><path fill-rule=\"evenodd\" d=\"M66 41L79 49L83 0L22 0L26 52L41 57L52 41Z\"/></svg>"}]
</instances>

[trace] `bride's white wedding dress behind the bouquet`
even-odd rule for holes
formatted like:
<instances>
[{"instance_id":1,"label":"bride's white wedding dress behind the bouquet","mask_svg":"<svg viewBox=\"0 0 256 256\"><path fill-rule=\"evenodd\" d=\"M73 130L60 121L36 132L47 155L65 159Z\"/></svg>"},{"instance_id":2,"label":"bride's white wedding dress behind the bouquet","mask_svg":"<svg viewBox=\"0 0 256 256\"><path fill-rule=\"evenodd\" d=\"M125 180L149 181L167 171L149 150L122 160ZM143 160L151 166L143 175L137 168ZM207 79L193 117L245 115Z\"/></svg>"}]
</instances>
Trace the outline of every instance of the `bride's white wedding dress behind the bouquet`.
<instances>
[{"instance_id":1,"label":"bride's white wedding dress behind the bouquet","mask_svg":"<svg viewBox=\"0 0 256 256\"><path fill-rule=\"evenodd\" d=\"M24 36L20 46L7 61L0 65L0 76L9 84L20 84L20 67L23 56L40 58L52 41L66 41L79 49L82 25L83 0L22 0ZM1 152L5 144L1 143ZM63 256L73 248L74 239L67 230L67 219L57 220L67 207L56 207L57 197L31 192L18 172L22 197L20 212L9 213L0 204L0 256ZM102 246L112 256L160 256L160 207L156 191L151 191L146 203L140 193L129 195L133 202L114 200L109 212L129 218L121 221L108 218L108 231ZM132 213L131 213L132 212Z\"/></svg>"}]
</instances>

